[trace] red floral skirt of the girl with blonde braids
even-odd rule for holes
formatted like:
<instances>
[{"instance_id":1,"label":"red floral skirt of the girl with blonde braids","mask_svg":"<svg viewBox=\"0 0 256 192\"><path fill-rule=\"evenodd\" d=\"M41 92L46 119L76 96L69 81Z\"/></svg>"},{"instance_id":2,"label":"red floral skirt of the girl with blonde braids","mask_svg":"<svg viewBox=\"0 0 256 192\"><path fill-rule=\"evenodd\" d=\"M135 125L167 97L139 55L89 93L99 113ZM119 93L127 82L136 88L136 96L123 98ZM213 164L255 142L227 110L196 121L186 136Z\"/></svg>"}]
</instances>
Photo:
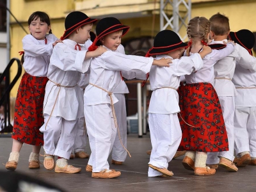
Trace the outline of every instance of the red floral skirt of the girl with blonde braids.
<instances>
[{"instance_id":1,"label":"red floral skirt of the girl with blonde braids","mask_svg":"<svg viewBox=\"0 0 256 192\"><path fill-rule=\"evenodd\" d=\"M227 131L220 100L212 84L181 84L178 92L182 129L179 150L227 151Z\"/></svg>"}]
</instances>

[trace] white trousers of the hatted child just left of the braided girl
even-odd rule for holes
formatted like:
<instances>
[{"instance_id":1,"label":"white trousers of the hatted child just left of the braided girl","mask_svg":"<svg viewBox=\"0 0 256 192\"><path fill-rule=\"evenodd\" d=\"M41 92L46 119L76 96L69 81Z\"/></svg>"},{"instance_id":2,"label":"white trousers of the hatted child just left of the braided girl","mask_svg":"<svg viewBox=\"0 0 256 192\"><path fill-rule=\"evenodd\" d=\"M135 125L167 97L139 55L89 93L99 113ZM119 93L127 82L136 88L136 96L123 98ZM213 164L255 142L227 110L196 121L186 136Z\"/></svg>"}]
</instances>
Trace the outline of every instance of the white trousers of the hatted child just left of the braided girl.
<instances>
[{"instance_id":1,"label":"white trousers of the hatted child just left of the braided girl","mask_svg":"<svg viewBox=\"0 0 256 192\"><path fill-rule=\"evenodd\" d=\"M177 113L148 113L148 124L152 144L148 164L152 164L158 168L168 168L168 163L175 155L182 137ZM156 177L158 175L162 175L162 173L150 167L148 168L148 177Z\"/></svg>"}]
</instances>

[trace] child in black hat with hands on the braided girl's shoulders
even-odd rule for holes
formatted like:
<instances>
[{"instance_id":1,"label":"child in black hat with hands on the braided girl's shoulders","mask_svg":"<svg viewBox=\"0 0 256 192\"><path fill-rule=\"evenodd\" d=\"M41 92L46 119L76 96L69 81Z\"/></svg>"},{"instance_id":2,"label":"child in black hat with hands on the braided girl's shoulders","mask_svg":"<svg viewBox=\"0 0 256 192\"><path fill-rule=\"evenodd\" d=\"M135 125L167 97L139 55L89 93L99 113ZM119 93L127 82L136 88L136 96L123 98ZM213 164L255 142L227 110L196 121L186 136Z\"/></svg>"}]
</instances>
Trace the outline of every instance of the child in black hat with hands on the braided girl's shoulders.
<instances>
[{"instance_id":1,"label":"child in black hat with hands on the braided girl's shoulders","mask_svg":"<svg viewBox=\"0 0 256 192\"><path fill-rule=\"evenodd\" d=\"M168 68L153 66L150 69L150 87L153 92L148 108L148 124L152 152L148 163L148 177L173 175L167 168L181 140L177 116L180 111L177 93L180 76L200 70L204 65L202 58L211 52L210 47L204 46L199 54L180 58L186 47L188 45L184 44L175 32L163 30L157 33L154 47L147 54L156 56L156 60L173 59Z\"/></svg>"}]
</instances>

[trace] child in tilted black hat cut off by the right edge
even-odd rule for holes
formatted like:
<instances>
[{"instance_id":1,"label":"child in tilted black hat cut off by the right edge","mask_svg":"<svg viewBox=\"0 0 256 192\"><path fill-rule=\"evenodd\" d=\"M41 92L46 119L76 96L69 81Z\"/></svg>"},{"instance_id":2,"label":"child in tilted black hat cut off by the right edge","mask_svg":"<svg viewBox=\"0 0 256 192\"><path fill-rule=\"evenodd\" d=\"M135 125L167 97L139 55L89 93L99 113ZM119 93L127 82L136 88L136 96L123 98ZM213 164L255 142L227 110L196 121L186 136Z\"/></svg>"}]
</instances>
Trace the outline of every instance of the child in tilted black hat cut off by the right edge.
<instances>
[{"instance_id":1,"label":"child in tilted black hat cut off by the right edge","mask_svg":"<svg viewBox=\"0 0 256 192\"><path fill-rule=\"evenodd\" d=\"M248 29L241 29L230 32L229 38L237 43L239 53L232 79L237 90L234 115L236 165L256 165L256 58L252 56L255 37Z\"/></svg>"}]
</instances>

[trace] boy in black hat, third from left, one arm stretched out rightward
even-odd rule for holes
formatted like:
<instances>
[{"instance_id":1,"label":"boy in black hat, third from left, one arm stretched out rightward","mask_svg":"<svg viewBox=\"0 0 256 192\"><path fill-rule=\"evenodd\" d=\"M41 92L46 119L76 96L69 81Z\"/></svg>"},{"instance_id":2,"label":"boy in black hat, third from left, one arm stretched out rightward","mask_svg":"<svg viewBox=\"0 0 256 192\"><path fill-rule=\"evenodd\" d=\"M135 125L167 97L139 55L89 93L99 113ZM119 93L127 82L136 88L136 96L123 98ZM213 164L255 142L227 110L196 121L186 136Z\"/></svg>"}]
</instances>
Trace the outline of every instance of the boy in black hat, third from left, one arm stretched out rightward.
<instances>
[{"instance_id":1,"label":"boy in black hat, third from left, one arm stretched out rightward","mask_svg":"<svg viewBox=\"0 0 256 192\"><path fill-rule=\"evenodd\" d=\"M94 178L113 178L121 175L120 172L109 170L108 164L108 156L118 129L113 108L113 104L118 100L113 90L122 79L120 71L147 74L152 64L169 66L170 62L114 52L128 29L129 26L122 25L114 17L101 19L96 26L97 37L89 47L89 50L94 50L98 45L104 45L109 50L102 56L93 58L90 84L84 92L84 116L92 150L86 170L92 171Z\"/></svg>"}]
</instances>

